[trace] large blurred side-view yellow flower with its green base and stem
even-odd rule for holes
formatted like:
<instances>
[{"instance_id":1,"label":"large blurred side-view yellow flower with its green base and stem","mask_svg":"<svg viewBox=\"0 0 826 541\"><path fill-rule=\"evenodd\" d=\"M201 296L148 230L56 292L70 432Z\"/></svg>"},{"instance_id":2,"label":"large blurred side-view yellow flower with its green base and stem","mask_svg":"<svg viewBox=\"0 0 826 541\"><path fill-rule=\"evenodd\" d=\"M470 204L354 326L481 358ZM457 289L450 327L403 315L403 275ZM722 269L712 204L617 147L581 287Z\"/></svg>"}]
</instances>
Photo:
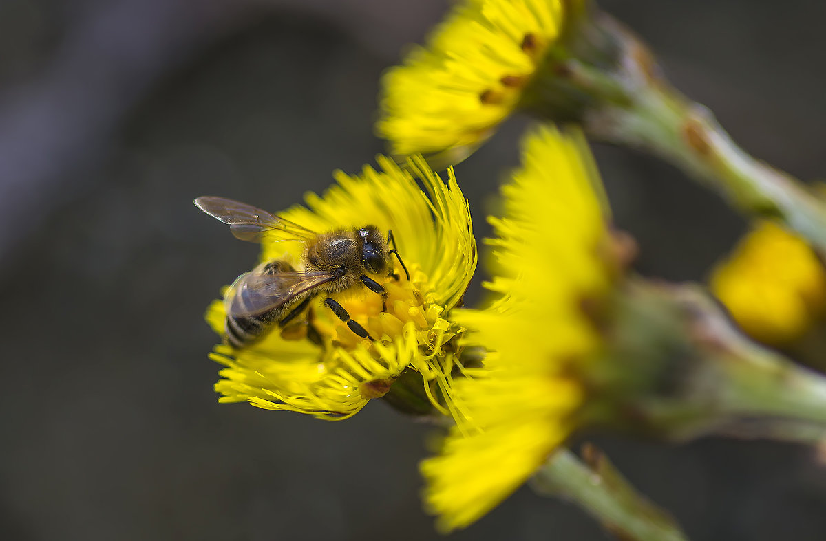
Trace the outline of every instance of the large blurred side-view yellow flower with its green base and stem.
<instances>
[{"instance_id":1,"label":"large blurred side-view yellow flower with its green base and stem","mask_svg":"<svg viewBox=\"0 0 826 541\"><path fill-rule=\"evenodd\" d=\"M824 426L826 380L748 341L702 288L626 272L633 244L609 227L581 138L529 134L502 195L493 299L453 311L460 344L487 355L449 382L455 425L421 463L440 529L479 519L584 426L667 440L743 419Z\"/></svg>"}]
</instances>

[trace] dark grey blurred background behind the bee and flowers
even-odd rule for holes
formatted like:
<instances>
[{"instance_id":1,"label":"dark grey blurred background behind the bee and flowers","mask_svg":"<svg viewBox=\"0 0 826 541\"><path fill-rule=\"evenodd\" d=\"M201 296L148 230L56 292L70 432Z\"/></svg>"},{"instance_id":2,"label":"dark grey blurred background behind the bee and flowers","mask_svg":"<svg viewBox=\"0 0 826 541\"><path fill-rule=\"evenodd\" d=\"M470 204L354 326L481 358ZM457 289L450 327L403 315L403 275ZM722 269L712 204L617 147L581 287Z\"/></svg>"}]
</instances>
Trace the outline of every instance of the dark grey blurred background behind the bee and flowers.
<instances>
[{"instance_id":1,"label":"dark grey blurred background behind the bee and flowers","mask_svg":"<svg viewBox=\"0 0 826 541\"><path fill-rule=\"evenodd\" d=\"M826 4L602 0L734 139L823 176ZM444 0L0 1L0 538L439 539L429 426L219 405L202 313L253 266L192 206L278 210L382 151L377 82ZM487 233L524 121L457 167ZM672 167L596 147L637 268L703 280L745 224ZM826 467L794 445L596 440L691 539L826 538ZM453 539L607 539L522 489Z\"/></svg>"}]
</instances>

